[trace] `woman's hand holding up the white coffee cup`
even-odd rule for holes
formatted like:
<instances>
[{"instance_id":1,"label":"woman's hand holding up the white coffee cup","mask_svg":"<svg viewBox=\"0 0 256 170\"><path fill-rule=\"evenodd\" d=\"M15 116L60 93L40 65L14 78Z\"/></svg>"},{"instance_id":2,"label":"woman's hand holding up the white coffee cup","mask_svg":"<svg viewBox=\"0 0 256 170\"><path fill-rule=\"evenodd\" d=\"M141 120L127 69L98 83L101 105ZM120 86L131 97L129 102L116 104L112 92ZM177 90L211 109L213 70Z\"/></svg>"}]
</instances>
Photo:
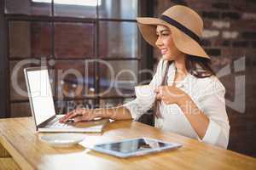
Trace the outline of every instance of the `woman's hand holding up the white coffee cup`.
<instances>
[{"instance_id":1,"label":"woman's hand holding up the white coffee cup","mask_svg":"<svg viewBox=\"0 0 256 170\"><path fill-rule=\"evenodd\" d=\"M156 99L163 100L166 105L179 105L189 97L183 90L174 86L160 86L154 92L156 93Z\"/></svg>"}]
</instances>

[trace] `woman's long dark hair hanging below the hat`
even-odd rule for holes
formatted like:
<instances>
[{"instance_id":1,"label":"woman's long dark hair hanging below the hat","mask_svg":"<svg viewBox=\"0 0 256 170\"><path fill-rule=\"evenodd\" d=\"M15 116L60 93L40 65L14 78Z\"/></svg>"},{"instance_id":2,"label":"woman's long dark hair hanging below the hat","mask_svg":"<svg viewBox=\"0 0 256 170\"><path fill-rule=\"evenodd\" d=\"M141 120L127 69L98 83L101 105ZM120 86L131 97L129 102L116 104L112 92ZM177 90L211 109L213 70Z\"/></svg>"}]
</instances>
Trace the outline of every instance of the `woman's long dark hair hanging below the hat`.
<instances>
[{"instance_id":1,"label":"woman's long dark hair hanging below the hat","mask_svg":"<svg viewBox=\"0 0 256 170\"><path fill-rule=\"evenodd\" d=\"M169 66L172 64L173 61L167 61L166 71L164 74L164 77L161 82L161 86L166 85L167 83L167 72L169 69ZM216 75L215 72L211 68L211 60L189 55L185 57L185 67L186 70L189 71L189 73L197 78L206 78L211 77L212 75ZM154 102L154 116L160 117L160 101L155 100Z\"/></svg>"}]
</instances>

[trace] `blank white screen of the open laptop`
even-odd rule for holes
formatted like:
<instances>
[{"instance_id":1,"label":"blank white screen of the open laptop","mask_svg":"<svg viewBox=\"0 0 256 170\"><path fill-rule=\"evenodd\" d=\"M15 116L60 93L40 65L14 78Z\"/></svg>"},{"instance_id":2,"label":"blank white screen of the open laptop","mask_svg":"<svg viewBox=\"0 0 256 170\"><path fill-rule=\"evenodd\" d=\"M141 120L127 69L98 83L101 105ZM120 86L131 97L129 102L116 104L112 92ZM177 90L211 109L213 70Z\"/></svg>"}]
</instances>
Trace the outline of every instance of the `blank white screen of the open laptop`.
<instances>
[{"instance_id":1,"label":"blank white screen of the open laptop","mask_svg":"<svg viewBox=\"0 0 256 170\"><path fill-rule=\"evenodd\" d=\"M55 105L49 84L48 70L26 71L27 87L36 124L55 116Z\"/></svg>"}]
</instances>

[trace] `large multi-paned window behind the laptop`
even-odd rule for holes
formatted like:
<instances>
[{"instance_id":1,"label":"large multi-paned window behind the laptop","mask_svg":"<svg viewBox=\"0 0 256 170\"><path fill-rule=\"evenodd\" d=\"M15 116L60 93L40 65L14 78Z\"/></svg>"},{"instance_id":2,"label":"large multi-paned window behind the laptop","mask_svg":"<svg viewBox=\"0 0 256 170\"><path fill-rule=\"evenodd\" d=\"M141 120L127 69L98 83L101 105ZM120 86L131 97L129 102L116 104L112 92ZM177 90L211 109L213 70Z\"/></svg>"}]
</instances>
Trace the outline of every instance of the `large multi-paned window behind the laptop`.
<instances>
[{"instance_id":1,"label":"large multi-paned window behind the laptop","mask_svg":"<svg viewBox=\"0 0 256 170\"><path fill-rule=\"evenodd\" d=\"M5 2L11 116L31 112L23 75L27 66L49 67L58 113L78 105L115 106L134 98L142 61L138 0Z\"/></svg>"}]
</instances>

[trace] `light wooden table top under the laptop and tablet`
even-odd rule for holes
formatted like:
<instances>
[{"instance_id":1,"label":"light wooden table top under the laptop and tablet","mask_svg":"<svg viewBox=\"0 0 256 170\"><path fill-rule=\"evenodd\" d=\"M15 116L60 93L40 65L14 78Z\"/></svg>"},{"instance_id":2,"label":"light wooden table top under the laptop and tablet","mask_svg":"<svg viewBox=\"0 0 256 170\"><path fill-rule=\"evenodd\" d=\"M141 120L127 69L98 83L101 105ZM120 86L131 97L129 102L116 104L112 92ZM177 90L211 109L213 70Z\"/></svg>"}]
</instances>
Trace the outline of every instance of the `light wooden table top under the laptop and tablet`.
<instances>
[{"instance_id":1,"label":"light wooden table top under the laptop and tablet","mask_svg":"<svg viewBox=\"0 0 256 170\"><path fill-rule=\"evenodd\" d=\"M51 147L36 133L32 117L0 119L0 142L21 169L256 169L256 159L223 150L195 139L163 132L139 122L108 123L104 132L84 133L80 144L68 148ZM50 135L44 133L44 135ZM150 137L179 142L183 147L127 159L86 149L116 139ZM0 165L1 167L1 165ZM1 169L1 168L0 168Z\"/></svg>"}]
</instances>

